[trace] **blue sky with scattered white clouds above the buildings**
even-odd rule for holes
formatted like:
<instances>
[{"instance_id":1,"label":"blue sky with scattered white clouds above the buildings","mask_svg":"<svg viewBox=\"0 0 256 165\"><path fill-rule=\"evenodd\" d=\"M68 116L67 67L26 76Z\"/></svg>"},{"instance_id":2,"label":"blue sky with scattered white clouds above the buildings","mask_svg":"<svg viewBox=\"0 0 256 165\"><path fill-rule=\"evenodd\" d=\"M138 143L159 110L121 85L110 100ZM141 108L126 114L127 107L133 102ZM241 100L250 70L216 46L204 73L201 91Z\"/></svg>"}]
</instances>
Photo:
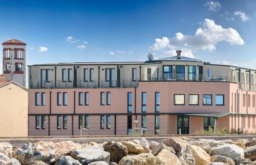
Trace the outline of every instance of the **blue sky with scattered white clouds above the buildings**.
<instances>
[{"instance_id":1,"label":"blue sky with scattered white clouds above the buildings","mask_svg":"<svg viewBox=\"0 0 256 165\"><path fill-rule=\"evenodd\" d=\"M3 1L0 14L0 41L26 42L27 65L145 61L152 46L256 69L256 1Z\"/></svg>"}]
</instances>

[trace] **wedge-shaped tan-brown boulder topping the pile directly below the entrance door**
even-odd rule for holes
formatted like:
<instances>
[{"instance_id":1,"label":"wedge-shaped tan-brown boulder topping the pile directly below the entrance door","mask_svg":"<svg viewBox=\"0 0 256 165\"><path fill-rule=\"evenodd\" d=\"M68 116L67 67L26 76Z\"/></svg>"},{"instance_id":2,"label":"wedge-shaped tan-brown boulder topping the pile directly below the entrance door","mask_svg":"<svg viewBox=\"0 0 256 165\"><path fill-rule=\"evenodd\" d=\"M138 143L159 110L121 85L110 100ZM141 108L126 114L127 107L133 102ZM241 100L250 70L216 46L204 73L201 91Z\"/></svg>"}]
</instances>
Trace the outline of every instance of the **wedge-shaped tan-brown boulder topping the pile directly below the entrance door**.
<instances>
[{"instance_id":1,"label":"wedge-shaped tan-brown boulder topping the pile directly below the entrance door","mask_svg":"<svg viewBox=\"0 0 256 165\"><path fill-rule=\"evenodd\" d=\"M176 154L180 152L181 148L185 148L188 146L187 141L179 137L160 140L160 142L164 143L168 147L172 147L175 150Z\"/></svg>"}]
</instances>

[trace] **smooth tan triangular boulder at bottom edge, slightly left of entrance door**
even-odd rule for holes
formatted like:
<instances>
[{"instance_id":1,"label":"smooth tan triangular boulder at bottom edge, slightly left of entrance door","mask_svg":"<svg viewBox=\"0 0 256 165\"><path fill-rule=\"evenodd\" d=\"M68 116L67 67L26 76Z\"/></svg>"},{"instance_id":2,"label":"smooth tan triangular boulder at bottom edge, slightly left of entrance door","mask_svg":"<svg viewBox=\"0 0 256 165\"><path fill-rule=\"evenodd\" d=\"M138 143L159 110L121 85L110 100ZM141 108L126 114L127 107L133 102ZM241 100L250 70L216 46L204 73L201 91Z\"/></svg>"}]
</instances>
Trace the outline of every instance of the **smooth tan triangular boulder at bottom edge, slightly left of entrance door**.
<instances>
[{"instance_id":1,"label":"smooth tan triangular boulder at bottom edge, slightly left of entrance door","mask_svg":"<svg viewBox=\"0 0 256 165\"><path fill-rule=\"evenodd\" d=\"M156 163L157 164L172 164L172 165L181 165L180 160L178 157L170 152L167 149L162 149L156 156Z\"/></svg>"}]
</instances>

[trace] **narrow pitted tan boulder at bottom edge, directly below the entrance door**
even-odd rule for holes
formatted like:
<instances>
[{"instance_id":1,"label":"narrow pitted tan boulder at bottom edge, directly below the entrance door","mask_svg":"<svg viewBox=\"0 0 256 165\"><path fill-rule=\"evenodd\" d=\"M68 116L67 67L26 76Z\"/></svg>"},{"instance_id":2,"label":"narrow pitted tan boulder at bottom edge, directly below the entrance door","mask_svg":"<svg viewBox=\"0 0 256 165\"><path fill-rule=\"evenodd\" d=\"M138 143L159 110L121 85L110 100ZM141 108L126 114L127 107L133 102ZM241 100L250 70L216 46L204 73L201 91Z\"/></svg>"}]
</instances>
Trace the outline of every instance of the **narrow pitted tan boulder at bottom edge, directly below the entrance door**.
<instances>
[{"instance_id":1,"label":"narrow pitted tan boulder at bottom edge, directly below the entrance door","mask_svg":"<svg viewBox=\"0 0 256 165\"><path fill-rule=\"evenodd\" d=\"M195 165L195 159L188 147L182 148L178 155L181 164Z\"/></svg>"}]
</instances>

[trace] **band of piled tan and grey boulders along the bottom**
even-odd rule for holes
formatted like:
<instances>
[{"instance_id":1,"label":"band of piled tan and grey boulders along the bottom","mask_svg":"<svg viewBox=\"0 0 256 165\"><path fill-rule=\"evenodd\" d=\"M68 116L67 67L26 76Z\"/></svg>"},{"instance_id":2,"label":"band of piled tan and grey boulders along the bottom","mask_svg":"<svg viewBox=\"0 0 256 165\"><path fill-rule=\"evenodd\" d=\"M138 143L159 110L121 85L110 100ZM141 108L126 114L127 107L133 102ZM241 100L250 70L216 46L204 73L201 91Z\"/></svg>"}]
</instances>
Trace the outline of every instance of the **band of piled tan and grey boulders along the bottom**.
<instances>
[{"instance_id":1,"label":"band of piled tan and grey boulders along the bottom","mask_svg":"<svg viewBox=\"0 0 256 165\"><path fill-rule=\"evenodd\" d=\"M6 164L256 165L256 138L195 140L187 137L172 137L159 142L141 138L103 144L40 141L24 144L20 148L12 147L9 143L0 143L0 165Z\"/></svg>"}]
</instances>

